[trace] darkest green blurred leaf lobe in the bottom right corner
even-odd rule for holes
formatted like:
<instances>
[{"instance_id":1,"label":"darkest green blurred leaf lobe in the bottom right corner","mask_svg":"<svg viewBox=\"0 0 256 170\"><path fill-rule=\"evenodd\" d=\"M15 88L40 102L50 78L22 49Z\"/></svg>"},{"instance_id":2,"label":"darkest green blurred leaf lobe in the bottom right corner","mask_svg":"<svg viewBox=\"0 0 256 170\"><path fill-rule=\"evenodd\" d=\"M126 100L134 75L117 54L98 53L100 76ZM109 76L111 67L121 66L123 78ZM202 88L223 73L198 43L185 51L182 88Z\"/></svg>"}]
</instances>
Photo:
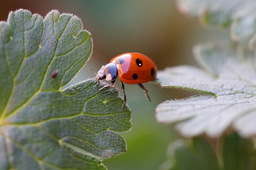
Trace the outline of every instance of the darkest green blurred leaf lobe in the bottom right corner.
<instances>
[{"instance_id":1,"label":"darkest green blurred leaf lobe in the bottom right corner","mask_svg":"<svg viewBox=\"0 0 256 170\"><path fill-rule=\"evenodd\" d=\"M256 169L255 146L252 140L237 133L226 135L222 141L222 159L225 170Z\"/></svg>"}]
</instances>

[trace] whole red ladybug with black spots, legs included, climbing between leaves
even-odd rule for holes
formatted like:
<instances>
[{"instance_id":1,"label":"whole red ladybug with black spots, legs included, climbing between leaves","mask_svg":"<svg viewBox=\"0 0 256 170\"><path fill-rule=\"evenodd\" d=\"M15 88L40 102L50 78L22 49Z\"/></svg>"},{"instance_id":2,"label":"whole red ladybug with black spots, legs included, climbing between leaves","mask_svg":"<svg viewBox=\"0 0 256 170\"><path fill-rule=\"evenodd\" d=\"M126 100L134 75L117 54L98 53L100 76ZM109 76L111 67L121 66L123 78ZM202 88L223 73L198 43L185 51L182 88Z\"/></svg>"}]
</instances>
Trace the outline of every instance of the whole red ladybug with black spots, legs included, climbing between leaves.
<instances>
[{"instance_id":1,"label":"whole red ladybug with black spots, legs included, climbing between leaves","mask_svg":"<svg viewBox=\"0 0 256 170\"><path fill-rule=\"evenodd\" d=\"M110 85L99 89L99 91L102 91L103 89L114 86L117 77L119 77L121 81L121 91L124 93L124 108L126 103L124 83L138 84L144 91L146 98L151 101L147 94L147 90L142 83L154 80L156 72L156 64L154 64L149 57L138 52L127 52L122 55L117 55L117 57L110 60L110 63L103 65L99 72L97 72L95 80L97 81L97 84L99 84L102 79L111 81Z\"/></svg>"}]
</instances>

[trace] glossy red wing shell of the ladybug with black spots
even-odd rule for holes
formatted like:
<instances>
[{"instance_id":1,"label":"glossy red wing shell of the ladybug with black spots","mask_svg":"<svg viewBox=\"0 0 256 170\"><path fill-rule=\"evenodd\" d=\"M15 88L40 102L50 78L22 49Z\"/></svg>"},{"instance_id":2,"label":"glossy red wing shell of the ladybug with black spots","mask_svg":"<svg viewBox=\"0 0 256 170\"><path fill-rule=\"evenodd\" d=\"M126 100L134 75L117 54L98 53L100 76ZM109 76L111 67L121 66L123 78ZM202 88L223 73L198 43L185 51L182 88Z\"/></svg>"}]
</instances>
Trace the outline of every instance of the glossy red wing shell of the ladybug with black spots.
<instances>
[{"instance_id":1,"label":"glossy red wing shell of the ladybug with black spots","mask_svg":"<svg viewBox=\"0 0 256 170\"><path fill-rule=\"evenodd\" d=\"M117 65L119 79L126 84L142 84L156 77L156 64L149 57L138 52L118 55L110 62Z\"/></svg>"}]
</instances>

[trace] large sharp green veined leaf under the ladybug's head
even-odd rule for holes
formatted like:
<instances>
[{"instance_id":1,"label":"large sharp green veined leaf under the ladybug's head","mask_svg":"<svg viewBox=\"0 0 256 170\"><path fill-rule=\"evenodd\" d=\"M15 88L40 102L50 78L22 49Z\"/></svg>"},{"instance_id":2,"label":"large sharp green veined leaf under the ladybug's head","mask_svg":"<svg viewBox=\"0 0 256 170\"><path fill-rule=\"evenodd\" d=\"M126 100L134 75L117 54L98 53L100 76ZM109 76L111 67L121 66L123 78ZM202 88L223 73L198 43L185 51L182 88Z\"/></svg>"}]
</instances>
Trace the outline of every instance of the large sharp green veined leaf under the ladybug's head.
<instances>
[{"instance_id":1,"label":"large sharp green veined leaf under the ladybug's head","mask_svg":"<svg viewBox=\"0 0 256 170\"><path fill-rule=\"evenodd\" d=\"M72 14L18 10L0 23L0 169L106 169L102 159L126 151L117 91L93 79L63 88L91 52Z\"/></svg>"}]
</instances>

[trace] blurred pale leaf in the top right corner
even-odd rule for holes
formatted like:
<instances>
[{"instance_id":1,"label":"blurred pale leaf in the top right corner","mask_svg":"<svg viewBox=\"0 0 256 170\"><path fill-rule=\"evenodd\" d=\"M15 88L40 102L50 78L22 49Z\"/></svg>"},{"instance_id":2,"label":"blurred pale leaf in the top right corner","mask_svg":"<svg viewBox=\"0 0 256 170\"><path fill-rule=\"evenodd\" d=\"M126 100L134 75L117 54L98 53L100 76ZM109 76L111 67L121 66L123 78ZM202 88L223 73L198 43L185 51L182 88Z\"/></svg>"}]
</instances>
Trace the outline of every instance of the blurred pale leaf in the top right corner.
<instances>
[{"instance_id":1,"label":"blurred pale leaf in the top right corner","mask_svg":"<svg viewBox=\"0 0 256 170\"><path fill-rule=\"evenodd\" d=\"M231 38L256 48L256 1L254 0L177 0L184 13L200 16L210 26L230 26Z\"/></svg>"}]
</instances>

